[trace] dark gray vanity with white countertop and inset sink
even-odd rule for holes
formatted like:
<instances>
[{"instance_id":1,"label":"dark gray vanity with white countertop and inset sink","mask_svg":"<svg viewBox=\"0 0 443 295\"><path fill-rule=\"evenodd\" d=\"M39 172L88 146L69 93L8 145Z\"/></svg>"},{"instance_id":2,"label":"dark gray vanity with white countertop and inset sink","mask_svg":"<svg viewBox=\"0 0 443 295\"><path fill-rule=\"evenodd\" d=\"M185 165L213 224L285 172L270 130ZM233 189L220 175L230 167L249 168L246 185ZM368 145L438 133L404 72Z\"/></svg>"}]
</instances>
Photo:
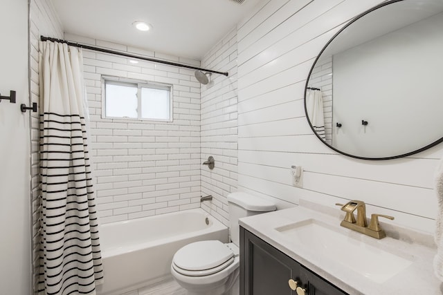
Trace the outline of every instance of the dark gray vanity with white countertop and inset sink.
<instances>
[{"instance_id":1,"label":"dark gray vanity with white countertop and inset sink","mask_svg":"<svg viewBox=\"0 0 443 295\"><path fill-rule=\"evenodd\" d=\"M379 240L341 227L341 212L302 200L240 218L240 294L442 294L432 236L386 223Z\"/></svg>"}]
</instances>

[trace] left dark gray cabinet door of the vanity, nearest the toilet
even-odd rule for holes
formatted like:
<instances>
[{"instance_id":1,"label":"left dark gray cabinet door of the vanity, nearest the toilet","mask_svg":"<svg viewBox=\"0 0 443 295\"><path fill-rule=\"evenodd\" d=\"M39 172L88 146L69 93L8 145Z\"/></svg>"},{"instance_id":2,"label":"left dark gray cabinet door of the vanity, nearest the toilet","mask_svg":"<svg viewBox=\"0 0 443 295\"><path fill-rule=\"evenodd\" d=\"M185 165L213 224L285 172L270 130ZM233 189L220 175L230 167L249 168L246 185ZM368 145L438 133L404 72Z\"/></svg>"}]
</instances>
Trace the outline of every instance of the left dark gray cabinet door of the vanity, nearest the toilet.
<instances>
[{"instance_id":1,"label":"left dark gray cabinet door of the vanity, nearest the toilet","mask_svg":"<svg viewBox=\"0 0 443 295\"><path fill-rule=\"evenodd\" d=\"M296 295L288 281L300 281L301 266L242 228L240 239L240 294Z\"/></svg>"}]
</instances>

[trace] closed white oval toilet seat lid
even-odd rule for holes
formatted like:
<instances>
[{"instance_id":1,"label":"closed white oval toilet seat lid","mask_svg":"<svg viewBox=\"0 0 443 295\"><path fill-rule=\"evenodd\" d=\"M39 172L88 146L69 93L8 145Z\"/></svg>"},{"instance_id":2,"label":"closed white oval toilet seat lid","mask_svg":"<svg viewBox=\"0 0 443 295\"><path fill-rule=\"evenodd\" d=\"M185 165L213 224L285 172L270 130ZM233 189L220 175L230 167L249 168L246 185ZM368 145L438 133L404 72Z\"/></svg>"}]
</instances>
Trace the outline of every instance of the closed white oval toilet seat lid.
<instances>
[{"instance_id":1,"label":"closed white oval toilet seat lid","mask_svg":"<svg viewBox=\"0 0 443 295\"><path fill-rule=\"evenodd\" d=\"M192 242L179 249L173 258L174 265L188 271L227 267L233 260L233 251L219 240Z\"/></svg>"}]
</instances>

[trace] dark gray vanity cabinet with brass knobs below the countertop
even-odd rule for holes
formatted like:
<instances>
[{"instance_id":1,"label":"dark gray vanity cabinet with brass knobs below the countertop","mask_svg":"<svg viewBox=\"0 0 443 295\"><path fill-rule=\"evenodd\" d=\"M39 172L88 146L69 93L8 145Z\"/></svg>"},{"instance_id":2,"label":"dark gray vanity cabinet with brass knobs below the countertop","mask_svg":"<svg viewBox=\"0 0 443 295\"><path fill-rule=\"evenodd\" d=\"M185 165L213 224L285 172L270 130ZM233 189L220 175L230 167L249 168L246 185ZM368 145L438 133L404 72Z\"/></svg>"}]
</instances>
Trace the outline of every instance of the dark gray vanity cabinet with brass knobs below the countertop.
<instances>
[{"instance_id":1,"label":"dark gray vanity cabinet with brass knobs below the countertop","mask_svg":"<svg viewBox=\"0 0 443 295\"><path fill-rule=\"evenodd\" d=\"M240 295L347 294L243 227L240 258ZM297 282L299 293L289 280L293 287Z\"/></svg>"}]
</instances>

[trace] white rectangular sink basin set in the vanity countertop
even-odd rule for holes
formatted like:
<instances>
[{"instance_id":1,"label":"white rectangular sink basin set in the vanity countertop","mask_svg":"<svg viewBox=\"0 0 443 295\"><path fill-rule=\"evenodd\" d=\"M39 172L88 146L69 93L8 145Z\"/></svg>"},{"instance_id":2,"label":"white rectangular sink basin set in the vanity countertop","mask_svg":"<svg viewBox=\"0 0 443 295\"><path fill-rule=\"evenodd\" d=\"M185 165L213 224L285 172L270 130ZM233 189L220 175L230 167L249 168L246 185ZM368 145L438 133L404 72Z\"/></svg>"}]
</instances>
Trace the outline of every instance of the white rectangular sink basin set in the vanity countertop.
<instances>
[{"instance_id":1,"label":"white rectangular sink basin set in the vanity countertop","mask_svg":"<svg viewBox=\"0 0 443 295\"><path fill-rule=\"evenodd\" d=\"M327 256L376 283L385 282L413 263L407 258L341 234L337 228L315 219L275 230L285 238L299 240L306 249Z\"/></svg>"}]
</instances>

